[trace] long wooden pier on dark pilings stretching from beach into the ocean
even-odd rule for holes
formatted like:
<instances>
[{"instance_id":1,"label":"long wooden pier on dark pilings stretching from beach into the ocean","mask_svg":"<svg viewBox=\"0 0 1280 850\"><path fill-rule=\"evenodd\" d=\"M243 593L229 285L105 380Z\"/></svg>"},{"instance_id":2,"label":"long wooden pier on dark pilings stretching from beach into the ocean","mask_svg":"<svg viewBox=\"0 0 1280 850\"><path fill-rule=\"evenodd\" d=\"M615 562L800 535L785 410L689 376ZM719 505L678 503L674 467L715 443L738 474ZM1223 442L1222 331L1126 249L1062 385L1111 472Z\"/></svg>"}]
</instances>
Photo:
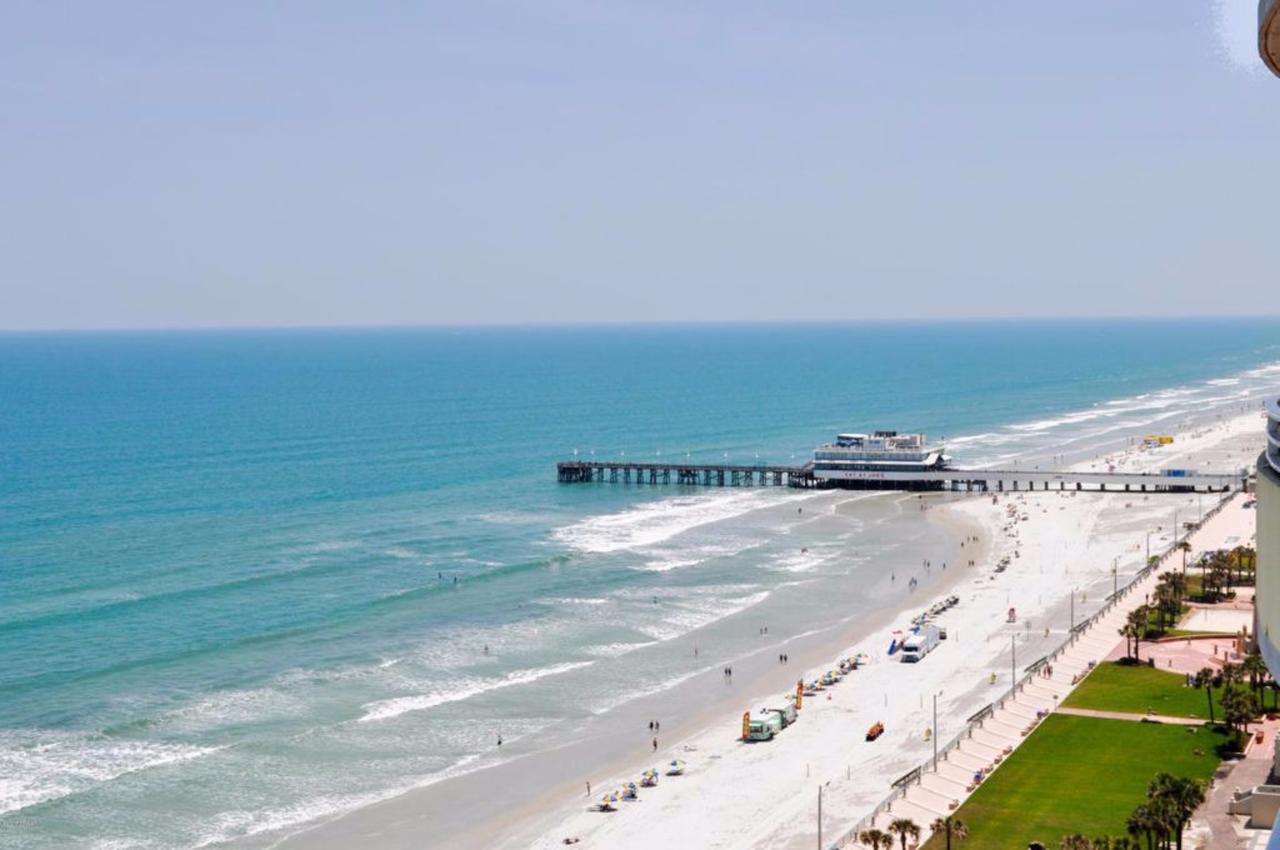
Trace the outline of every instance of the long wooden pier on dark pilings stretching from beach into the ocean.
<instances>
[{"instance_id":1,"label":"long wooden pier on dark pilings stretching from beach into the ocean","mask_svg":"<svg viewBox=\"0 0 1280 850\"><path fill-rule=\"evenodd\" d=\"M1249 471L1184 472L1055 472L1051 470L931 470L928 472L860 472L818 477L804 466L732 463L632 463L563 461L557 475L564 484L685 486L790 486L849 490L952 490L1019 493L1096 490L1102 493L1230 493L1248 485Z\"/></svg>"}]
</instances>

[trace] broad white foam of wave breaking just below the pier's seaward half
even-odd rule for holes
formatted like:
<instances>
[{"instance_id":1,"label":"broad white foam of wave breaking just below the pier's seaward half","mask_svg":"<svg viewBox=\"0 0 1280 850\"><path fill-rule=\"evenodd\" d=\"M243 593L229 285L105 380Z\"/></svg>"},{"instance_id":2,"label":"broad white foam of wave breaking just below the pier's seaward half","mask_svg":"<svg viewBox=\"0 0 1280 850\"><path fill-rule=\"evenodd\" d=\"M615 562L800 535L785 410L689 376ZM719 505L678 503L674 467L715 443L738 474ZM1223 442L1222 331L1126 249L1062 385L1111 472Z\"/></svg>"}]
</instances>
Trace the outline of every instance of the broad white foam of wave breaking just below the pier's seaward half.
<instances>
[{"instance_id":1,"label":"broad white foam of wave breaking just below the pier's seaward half","mask_svg":"<svg viewBox=\"0 0 1280 850\"><path fill-rule=\"evenodd\" d=\"M591 517L558 529L552 536L580 552L620 552L663 543L691 529L731 520L785 499L783 494L760 492L675 497Z\"/></svg>"}]
</instances>

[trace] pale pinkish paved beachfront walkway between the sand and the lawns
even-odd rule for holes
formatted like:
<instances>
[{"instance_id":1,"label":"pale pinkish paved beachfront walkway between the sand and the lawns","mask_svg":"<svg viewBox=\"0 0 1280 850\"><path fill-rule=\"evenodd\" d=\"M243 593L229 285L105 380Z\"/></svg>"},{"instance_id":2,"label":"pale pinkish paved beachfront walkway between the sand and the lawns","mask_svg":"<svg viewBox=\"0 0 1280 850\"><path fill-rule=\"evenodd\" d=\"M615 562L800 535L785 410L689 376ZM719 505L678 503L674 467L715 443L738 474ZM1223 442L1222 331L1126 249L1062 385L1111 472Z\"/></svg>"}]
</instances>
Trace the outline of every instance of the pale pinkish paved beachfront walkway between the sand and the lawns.
<instances>
[{"instance_id":1,"label":"pale pinkish paved beachfront walkway between the sand and the lawns","mask_svg":"<svg viewBox=\"0 0 1280 850\"><path fill-rule=\"evenodd\" d=\"M1233 501L1234 498L1228 498L1219 502L1184 539L1199 536L1206 524ZM900 780L895 783L893 791L870 814L831 846L852 846L864 830L887 830L890 822L897 818L910 818L922 831L928 832L936 818L955 813L977 790L974 773L982 769L984 778L989 777L1084 678L1089 664L1106 658L1119 640L1116 634L1128 620L1129 611L1135 607L1124 604L1125 600L1135 594L1139 600L1144 594L1151 594L1160 582L1158 573L1165 562L1175 552L1176 548L1170 544L1153 563L1120 588L1101 611L1079 623L1061 646L1036 662L997 702L974 714L960 735L946 746L940 745L937 767L931 758L908 773L904 778L909 781ZM1044 664L1053 667L1052 676L1041 673Z\"/></svg>"}]
</instances>

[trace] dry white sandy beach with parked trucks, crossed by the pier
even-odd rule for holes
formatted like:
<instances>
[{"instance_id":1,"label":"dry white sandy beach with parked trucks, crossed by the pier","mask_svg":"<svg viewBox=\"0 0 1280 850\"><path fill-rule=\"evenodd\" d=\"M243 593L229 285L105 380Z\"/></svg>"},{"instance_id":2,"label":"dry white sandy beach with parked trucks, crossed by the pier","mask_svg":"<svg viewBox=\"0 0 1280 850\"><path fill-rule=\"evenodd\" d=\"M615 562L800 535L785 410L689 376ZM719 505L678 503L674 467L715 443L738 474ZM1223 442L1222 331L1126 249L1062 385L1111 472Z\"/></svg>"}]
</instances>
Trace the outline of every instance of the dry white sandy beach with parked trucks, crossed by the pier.
<instances>
[{"instance_id":1,"label":"dry white sandy beach with parked trucks, crossed by the pier","mask_svg":"<svg viewBox=\"0 0 1280 850\"><path fill-rule=\"evenodd\" d=\"M1078 469L1235 469L1253 461L1261 435L1258 415L1249 412L1178 434L1170 447L1128 449ZM904 593L896 627L946 593L961 600L940 620L948 640L922 663L897 663L886 655L890 635L870 634L836 658L863 652L872 663L831 689L829 698L806 700L800 721L774 741L741 742L741 716L724 716L682 740L664 741L653 758L614 776L591 777L590 799L585 792L566 796L541 817L513 824L500 846L549 850L577 838L577 846L602 850L812 847L819 786L829 845L888 794L893 778L929 757L933 745L925 730L934 694L938 739L945 742L969 714L1007 689L1011 641L1018 644L1020 675L1064 640L1073 589L1079 621L1111 591L1112 563L1115 580L1124 584L1144 561L1148 533L1151 550L1164 550L1172 540L1175 511L1189 521L1215 503L1216 497L1188 494L1024 493L1002 494L995 503L987 494L937 504L933 509L952 513L955 522L980 526L991 545L974 567L948 565L956 575L948 575L952 580L934 595ZM1010 504L1025 518L1010 521ZM993 565L1006 556L1010 567L997 575ZM1016 609L1012 625L1006 622L1009 608ZM792 672L809 678L833 667L836 658ZM780 702L781 694L755 694L742 708ZM877 721L886 725L886 734L876 742L864 741ZM685 776L663 777L658 787L641 790L639 801L623 803L616 813L593 810L600 792L637 781L643 769L672 758L687 762Z\"/></svg>"}]
</instances>

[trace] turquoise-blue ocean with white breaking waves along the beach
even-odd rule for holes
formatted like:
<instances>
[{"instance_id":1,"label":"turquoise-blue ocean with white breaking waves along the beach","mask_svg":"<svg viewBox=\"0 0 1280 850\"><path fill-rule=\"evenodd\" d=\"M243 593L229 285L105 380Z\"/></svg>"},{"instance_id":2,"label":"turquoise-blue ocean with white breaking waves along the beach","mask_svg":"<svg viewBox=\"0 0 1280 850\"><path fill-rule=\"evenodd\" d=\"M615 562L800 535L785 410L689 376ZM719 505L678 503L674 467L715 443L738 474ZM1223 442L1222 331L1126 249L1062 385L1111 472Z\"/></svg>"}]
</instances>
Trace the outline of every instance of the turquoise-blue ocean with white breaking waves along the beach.
<instances>
[{"instance_id":1,"label":"turquoise-blue ocean with white breaking waves along the beach","mask_svg":"<svg viewBox=\"0 0 1280 850\"><path fill-rule=\"evenodd\" d=\"M1070 462L1277 383L1262 320L0 334L0 847L269 846L870 609L923 545L874 495L557 460Z\"/></svg>"}]
</instances>

